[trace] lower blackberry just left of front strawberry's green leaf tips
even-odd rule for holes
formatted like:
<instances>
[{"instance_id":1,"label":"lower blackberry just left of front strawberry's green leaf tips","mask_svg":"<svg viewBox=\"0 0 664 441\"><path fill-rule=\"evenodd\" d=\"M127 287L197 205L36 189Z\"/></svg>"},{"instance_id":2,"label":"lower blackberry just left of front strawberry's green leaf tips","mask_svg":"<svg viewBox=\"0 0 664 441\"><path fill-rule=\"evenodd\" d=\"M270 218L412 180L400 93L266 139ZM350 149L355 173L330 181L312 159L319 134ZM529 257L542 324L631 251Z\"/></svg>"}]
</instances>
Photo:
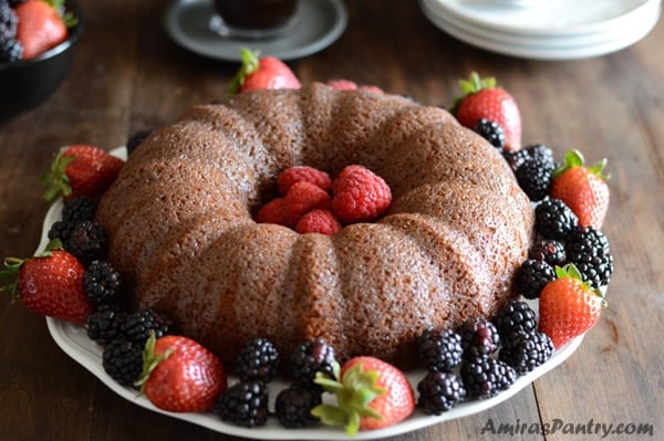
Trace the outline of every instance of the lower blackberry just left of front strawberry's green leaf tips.
<instances>
[{"instance_id":1,"label":"lower blackberry just left of front strawberry's green leaf tips","mask_svg":"<svg viewBox=\"0 0 664 441\"><path fill-rule=\"evenodd\" d=\"M295 384L283 389L274 401L274 412L281 426L287 429L311 427L320 422L311 414L311 409L323 402L322 392Z\"/></svg>"}]
</instances>

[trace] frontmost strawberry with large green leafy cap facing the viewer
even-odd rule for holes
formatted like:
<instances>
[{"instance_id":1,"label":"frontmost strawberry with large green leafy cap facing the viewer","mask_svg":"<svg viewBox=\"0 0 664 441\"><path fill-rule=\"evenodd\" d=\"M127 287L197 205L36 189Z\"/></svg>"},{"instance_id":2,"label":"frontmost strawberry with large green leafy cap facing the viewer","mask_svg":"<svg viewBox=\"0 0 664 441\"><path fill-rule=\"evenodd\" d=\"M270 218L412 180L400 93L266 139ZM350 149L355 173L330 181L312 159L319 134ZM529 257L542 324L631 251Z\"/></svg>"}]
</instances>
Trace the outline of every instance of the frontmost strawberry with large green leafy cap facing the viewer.
<instances>
[{"instance_id":1,"label":"frontmost strawberry with large green leafy cap facing the viewer","mask_svg":"<svg viewBox=\"0 0 664 441\"><path fill-rule=\"evenodd\" d=\"M374 357L351 358L341 369L335 364L334 378L319 372L314 381L336 396L338 406L323 403L311 413L325 424L344 424L350 435L395 424L415 409L404 372Z\"/></svg>"}]
</instances>

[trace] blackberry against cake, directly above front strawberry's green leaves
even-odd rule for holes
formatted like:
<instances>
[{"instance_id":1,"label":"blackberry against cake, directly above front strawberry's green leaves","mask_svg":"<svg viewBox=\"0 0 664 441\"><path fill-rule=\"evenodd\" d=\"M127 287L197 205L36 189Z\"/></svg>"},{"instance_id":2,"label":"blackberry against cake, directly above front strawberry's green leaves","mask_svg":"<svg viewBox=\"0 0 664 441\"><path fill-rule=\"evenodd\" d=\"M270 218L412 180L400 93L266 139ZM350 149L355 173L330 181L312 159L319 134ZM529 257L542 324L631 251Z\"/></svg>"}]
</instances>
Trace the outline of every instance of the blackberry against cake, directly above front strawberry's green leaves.
<instances>
[{"instance_id":1,"label":"blackberry against cake, directly above front strawberry's green leaves","mask_svg":"<svg viewBox=\"0 0 664 441\"><path fill-rule=\"evenodd\" d=\"M315 372L333 375L334 361L334 348L325 340L317 338L304 343L291 356L293 378L302 384L313 385Z\"/></svg>"}]
</instances>

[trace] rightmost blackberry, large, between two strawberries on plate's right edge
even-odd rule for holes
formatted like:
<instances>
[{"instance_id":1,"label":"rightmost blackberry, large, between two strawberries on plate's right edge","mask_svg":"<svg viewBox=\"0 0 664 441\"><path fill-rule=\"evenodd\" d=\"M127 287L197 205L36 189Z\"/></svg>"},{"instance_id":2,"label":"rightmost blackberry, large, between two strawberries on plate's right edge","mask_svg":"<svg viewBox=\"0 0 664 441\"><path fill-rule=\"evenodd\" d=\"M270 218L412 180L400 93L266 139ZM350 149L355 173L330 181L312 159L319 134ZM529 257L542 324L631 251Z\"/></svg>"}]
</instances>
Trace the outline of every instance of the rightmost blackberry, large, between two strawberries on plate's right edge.
<instances>
[{"instance_id":1,"label":"rightmost blackberry, large, between two strawberries on plate's right edge","mask_svg":"<svg viewBox=\"0 0 664 441\"><path fill-rule=\"evenodd\" d=\"M609 284L613 275L613 256L609 239L592 227L579 227L566 242L568 263L573 263L584 282L592 287Z\"/></svg>"}]
</instances>

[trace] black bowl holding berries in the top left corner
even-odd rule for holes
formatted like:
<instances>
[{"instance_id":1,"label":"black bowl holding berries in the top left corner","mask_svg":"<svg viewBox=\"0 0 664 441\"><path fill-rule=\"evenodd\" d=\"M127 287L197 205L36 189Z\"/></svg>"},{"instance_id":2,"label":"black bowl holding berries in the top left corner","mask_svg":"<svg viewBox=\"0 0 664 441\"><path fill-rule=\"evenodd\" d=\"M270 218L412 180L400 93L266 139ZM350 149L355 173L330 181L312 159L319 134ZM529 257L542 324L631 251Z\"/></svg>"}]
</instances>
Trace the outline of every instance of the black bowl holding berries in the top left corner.
<instances>
[{"instance_id":1,"label":"black bowl holding berries in the top left corner","mask_svg":"<svg viewBox=\"0 0 664 441\"><path fill-rule=\"evenodd\" d=\"M66 77L74 48L85 28L81 9L66 1L66 10L79 22L69 30L69 39L30 60L0 63L0 120L15 116L46 99Z\"/></svg>"}]
</instances>

